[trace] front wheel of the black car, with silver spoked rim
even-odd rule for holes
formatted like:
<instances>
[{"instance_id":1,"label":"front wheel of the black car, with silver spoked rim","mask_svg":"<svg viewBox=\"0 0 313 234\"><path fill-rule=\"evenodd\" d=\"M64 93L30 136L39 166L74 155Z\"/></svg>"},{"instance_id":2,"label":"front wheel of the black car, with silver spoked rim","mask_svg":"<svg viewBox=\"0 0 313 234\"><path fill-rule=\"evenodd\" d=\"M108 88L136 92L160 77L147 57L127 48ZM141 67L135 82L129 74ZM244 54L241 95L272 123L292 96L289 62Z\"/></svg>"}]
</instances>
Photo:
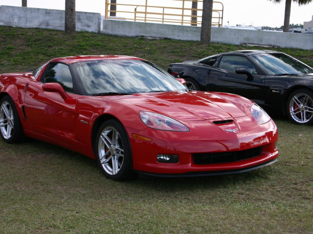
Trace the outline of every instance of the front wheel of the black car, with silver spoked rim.
<instances>
[{"instance_id":1,"label":"front wheel of the black car, with silver spoked rim","mask_svg":"<svg viewBox=\"0 0 313 234\"><path fill-rule=\"evenodd\" d=\"M287 100L287 115L296 124L313 123L313 92L307 89L294 91Z\"/></svg>"}]
</instances>

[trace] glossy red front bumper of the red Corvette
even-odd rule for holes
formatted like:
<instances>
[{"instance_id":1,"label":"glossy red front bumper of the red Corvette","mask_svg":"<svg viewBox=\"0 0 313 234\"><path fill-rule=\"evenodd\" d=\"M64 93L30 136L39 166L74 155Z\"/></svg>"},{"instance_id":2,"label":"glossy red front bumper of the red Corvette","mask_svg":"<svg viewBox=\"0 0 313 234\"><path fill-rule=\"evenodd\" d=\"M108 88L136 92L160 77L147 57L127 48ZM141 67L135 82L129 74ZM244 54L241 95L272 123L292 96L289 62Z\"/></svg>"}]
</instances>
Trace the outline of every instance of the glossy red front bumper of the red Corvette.
<instances>
[{"instance_id":1,"label":"glossy red front bumper of the red Corvette","mask_svg":"<svg viewBox=\"0 0 313 234\"><path fill-rule=\"evenodd\" d=\"M224 175L255 170L278 160L278 132L273 121L259 126L242 125L236 133L226 132L221 127L205 128L205 123L201 121L194 123L193 127L196 131L192 128L190 132L127 129L132 146L133 170L144 175L166 177ZM134 139L132 133L153 140ZM233 153L254 148L262 150L258 155L234 161L213 160L211 163L199 163L194 158L196 154ZM178 155L179 161L158 162L159 154Z\"/></svg>"}]
</instances>

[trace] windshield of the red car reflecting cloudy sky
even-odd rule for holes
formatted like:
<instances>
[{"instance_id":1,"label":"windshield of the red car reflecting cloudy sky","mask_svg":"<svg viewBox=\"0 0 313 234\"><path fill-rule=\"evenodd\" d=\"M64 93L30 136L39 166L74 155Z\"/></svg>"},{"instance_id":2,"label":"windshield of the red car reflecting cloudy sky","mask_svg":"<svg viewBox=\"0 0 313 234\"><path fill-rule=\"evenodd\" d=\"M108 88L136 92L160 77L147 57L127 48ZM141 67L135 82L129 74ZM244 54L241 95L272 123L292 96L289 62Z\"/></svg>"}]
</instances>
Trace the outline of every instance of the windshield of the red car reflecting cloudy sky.
<instances>
[{"instance_id":1,"label":"windshield of the red car reflecting cloudy sky","mask_svg":"<svg viewBox=\"0 0 313 234\"><path fill-rule=\"evenodd\" d=\"M83 61L73 63L72 68L87 95L186 91L177 79L144 60Z\"/></svg>"}]
</instances>

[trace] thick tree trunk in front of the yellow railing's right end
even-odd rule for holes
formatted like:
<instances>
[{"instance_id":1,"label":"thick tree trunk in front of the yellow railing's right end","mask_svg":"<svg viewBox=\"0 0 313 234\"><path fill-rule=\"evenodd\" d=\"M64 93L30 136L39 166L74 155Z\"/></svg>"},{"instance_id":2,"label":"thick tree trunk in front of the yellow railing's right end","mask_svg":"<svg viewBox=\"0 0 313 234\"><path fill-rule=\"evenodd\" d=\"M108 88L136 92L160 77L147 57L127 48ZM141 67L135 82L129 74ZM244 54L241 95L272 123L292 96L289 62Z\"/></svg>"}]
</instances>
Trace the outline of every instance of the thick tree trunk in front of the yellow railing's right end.
<instances>
[{"instance_id":1,"label":"thick tree trunk in front of the yellow railing's right end","mask_svg":"<svg viewBox=\"0 0 313 234\"><path fill-rule=\"evenodd\" d=\"M210 44L212 28L213 0L203 0L202 23L201 23L201 44Z\"/></svg>"}]
</instances>

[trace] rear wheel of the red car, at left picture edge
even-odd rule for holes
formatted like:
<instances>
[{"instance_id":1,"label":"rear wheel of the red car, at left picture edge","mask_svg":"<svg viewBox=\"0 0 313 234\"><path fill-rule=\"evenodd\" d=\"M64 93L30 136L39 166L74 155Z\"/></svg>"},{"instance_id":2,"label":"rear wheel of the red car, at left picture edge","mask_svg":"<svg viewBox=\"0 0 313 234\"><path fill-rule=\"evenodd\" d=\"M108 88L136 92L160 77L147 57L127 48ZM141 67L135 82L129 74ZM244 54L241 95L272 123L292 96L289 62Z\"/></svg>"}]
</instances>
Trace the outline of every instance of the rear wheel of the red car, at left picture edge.
<instances>
[{"instance_id":1,"label":"rear wheel of the red car, at left picture edge","mask_svg":"<svg viewBox=\"0 0 313 234\"><path fill-rule=\"evenodd\" d=\"M8 96L0 100L0 135L9 144L19 142L24 135L16 106Z\"/></svg>"}]
</instances>

